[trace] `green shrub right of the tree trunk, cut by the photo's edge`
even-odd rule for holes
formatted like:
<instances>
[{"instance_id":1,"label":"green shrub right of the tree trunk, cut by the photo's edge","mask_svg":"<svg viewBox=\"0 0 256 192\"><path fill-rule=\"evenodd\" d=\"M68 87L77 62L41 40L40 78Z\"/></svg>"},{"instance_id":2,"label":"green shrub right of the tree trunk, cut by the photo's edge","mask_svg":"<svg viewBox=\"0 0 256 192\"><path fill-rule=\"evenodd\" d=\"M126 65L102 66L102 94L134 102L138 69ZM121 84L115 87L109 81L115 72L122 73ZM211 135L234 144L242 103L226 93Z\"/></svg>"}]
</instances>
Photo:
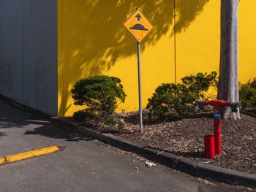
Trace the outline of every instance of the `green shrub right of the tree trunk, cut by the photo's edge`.
<instances>
[{"instance_id":1,"label":"green shrub right of the tree trunk, cut by the photo's edge","mask_svg":"<svg viewBox=\"0 0 256 192\"><path fill-rule=\"evenodd\" d=\"M240 84L239 97L242 107L256 107L256 78Z\"/></svg>"}]
</instances>

